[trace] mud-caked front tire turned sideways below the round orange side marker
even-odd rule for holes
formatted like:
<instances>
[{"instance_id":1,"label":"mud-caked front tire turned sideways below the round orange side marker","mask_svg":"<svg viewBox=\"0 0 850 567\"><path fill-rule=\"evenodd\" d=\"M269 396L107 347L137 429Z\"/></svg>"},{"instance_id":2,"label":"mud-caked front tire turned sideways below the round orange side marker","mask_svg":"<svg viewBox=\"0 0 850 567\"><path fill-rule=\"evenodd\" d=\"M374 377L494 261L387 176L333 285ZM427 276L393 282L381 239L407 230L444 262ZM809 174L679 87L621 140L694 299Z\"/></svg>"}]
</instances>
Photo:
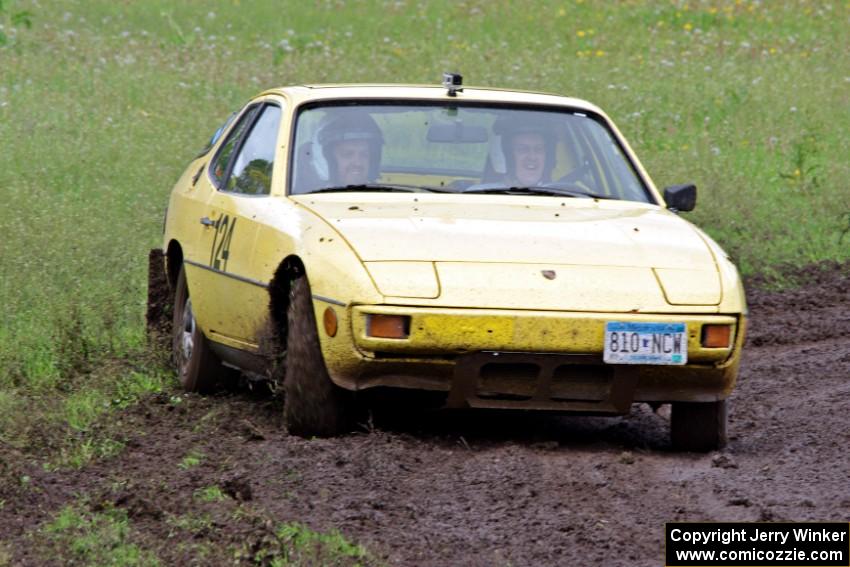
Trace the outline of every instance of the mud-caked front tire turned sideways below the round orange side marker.
<instances>
[{"instance_id":1,"label":"mud-caked front tire turned sideways below the round orange side marker","mask_svg":"<svg viewBox=\"0 0 850 567\"><path fill-rule=\"evenodd\" d=\"M287 312L283 420L293 435L333 437L351 429L352 395L328 376L306 276L292 283Z\"/></svg>"}]
</instances>

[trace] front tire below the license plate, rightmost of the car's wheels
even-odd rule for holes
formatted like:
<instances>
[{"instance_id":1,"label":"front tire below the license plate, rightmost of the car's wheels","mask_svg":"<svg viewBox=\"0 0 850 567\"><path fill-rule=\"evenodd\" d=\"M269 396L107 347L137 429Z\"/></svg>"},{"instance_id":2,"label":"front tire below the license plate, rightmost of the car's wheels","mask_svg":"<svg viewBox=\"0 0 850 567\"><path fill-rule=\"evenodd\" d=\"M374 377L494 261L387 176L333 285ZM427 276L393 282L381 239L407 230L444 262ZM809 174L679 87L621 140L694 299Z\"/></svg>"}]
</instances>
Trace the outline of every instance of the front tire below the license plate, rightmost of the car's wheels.
<instances>
[{"instance_id":1,"label":"front tire below the license plate, rightmost of the car's wheels","mask_svg":"<svg viewBox=\"0 0 850 567\"><path fill-rule=\"evenodd\" d=\"M670 440L677 451L706 452L726 445L726 400L674 402Z\"/></svg>"}]
</instances>

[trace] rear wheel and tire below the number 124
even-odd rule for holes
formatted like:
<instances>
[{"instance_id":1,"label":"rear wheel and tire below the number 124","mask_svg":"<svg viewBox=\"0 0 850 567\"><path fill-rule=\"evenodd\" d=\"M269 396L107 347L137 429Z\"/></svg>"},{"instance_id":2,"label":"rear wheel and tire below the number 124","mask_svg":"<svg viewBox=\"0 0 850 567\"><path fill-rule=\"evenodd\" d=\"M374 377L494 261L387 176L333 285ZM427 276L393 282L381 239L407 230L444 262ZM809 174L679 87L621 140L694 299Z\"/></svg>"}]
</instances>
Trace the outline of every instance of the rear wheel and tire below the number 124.
<instances>
[{"instance_id":1,"label":"rear wheel and tire below the number 124","mask_svg":"<svg viewBox=\"0 0 850 567\"><path fill-rule=\"evenodd\" d=\"M174 323L171 347L177 378L187 392L209 393L225 375L225 368L210 350L204 332L195 321L186 271L180 267L174 292Z\"/></svg>"}]
</instances>

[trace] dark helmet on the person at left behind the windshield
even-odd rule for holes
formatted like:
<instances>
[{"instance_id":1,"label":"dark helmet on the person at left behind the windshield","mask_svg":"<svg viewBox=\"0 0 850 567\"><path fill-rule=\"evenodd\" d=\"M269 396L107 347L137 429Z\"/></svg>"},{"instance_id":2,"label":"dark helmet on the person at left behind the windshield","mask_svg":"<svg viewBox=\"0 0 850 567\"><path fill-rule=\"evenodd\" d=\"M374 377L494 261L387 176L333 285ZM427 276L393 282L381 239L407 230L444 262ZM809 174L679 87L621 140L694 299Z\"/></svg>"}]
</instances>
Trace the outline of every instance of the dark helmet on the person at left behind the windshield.
<instances>
[{"instance_id":1,"label":"dark helmet on the person at left behind the windshield","mask_svg":"<svg viewBox=\"0 0 850 567\"><path fill-rule=\"evenodd\" d=\"M375 120L365 112L337 110L322 118L316 131L316 141L328 163L329 177L333 179L337 167L333 147L339 142L365 140L369 143L369 179L377 179L381 166L381 149L384 137Z\"/></svg>"}]
</instances>

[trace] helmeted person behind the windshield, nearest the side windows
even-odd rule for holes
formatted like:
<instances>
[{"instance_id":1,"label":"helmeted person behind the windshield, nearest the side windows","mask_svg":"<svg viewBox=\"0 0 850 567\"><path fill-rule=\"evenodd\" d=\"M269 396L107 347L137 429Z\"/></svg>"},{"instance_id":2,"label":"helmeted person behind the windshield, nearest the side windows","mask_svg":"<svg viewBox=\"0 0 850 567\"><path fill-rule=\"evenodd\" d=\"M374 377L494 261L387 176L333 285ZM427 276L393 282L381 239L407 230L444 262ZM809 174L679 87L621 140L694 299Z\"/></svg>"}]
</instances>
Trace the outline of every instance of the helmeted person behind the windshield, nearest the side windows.
<instances>
[{"instance_id":1,"label":"helmeted person behind the windshield, nearest the side windows","mask_svg":"<svg viewBox=\"0 0 850 567\"><path fill-rule=\"evenodd\" d=\"M378 178L384 138L368 114L337 111L328 114L317 139L328 163L332 186L362 185Z\"/></svg>"}]
</instances>

